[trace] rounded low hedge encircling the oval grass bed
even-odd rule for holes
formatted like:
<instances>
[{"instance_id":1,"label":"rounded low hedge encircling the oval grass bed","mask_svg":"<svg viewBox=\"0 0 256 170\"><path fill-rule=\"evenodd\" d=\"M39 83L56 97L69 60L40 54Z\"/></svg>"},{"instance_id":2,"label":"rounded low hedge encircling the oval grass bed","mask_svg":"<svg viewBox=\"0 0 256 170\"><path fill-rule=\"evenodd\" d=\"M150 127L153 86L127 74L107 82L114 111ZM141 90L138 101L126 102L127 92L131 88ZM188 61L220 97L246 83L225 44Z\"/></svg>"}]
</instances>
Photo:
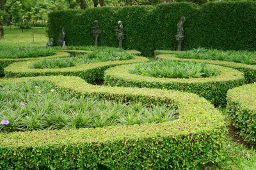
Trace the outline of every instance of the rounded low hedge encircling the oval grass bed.
<instances>
[{"instance_id":1,"label":"rounded low hedge encircling the oval grass bed","mask_svg":"<svg viewBox=\"0 0 256 170\"><path fill-rule=\"evenodd\" d=\"M215 106L225 106L228 89L244 84L243 73L228 67L212 65L220 70L220 75L209 78L155 78L131 74L129 70L136 64L117 66L105 72L104 83L111 86L148 87L193 92L205 97Z\"/></svg>"}]
</instances>

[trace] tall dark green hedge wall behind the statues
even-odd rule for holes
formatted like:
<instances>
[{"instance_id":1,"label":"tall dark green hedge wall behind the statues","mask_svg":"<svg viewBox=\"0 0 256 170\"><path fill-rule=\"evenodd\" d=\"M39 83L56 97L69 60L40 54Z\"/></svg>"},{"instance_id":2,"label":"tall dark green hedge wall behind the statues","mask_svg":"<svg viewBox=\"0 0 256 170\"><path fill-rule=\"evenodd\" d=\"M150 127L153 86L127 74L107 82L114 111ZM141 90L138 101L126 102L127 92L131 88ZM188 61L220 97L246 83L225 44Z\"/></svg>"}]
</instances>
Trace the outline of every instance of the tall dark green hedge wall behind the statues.
<instances>
[{"instance_id":1,"label":"tall dark green hedge wall behind the statues","mask_svg":"<svg viewBox=\"0 0 256 170\"><path fill-rule=\"evenodd\" d=\"M181 16L184 24L184 49L202 46L222 50L254 50L256 46L256 3L164 3L157 6L90 8L64 10L49 14L49 38L55 44L61 27L65 27L67 45L93 45L91 28L98 20L102 34L100 46L118 46L115 29L124 24L125 49L153 55L154 50L176 50L175 34Z\"/></svg>"}]
</instances>

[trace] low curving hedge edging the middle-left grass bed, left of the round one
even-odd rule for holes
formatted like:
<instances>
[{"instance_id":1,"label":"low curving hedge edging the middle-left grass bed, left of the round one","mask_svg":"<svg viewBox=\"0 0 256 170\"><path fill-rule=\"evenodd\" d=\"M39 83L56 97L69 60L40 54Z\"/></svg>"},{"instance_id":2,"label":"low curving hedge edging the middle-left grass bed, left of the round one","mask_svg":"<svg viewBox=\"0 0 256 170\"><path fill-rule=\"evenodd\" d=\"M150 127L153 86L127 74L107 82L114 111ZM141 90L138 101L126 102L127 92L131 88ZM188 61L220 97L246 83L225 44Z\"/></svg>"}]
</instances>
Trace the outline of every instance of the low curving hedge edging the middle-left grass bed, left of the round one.
<instances>
[{"instance_id":1,"label":"low curving hedge edging the middle-left grass bed, left of the round one","mask_svg":"<svg viewBox=\"0 0 256 170\"><path fill-rule=\"evenodd\" d=\"M104 71L109 67L118 66L122 64L130 64L134 62L144 62L148 61L146 57L138 57L131 60L116 60L107 62L95 62L89 64L82 64L75 67L65 67L57 69L31 69L30 66L33 62L17 62L11 64L4 69L4 74L7 78L10 77L29 77L29 76L51 76L51 75L64 75L64 76L78 76L83 78L88 83L96 83L97 81L102 81L104 76Z\"/></svg>"}]
</instances>

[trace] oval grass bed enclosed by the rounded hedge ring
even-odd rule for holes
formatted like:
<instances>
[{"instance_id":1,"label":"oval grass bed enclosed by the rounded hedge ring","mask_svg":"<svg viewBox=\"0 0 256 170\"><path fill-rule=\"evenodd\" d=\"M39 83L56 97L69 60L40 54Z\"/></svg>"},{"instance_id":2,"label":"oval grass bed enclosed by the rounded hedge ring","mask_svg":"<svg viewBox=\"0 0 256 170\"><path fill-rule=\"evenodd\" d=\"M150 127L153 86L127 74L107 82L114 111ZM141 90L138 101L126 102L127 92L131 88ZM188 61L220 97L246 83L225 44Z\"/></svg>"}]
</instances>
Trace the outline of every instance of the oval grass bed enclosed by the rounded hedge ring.
<instances>
[{"instance_id":1,"label":"oval grass bed enclosed by the rounded hedge ring","mask_svg":"<svg viewBox=\"0 0 256 170\"><path fill-rule=\"evenodd\" d=\"M157 60L141 63L130 73L159 78L200 78L217 76L220 71L204 63Z\"/></svg>"}]
</instances>

